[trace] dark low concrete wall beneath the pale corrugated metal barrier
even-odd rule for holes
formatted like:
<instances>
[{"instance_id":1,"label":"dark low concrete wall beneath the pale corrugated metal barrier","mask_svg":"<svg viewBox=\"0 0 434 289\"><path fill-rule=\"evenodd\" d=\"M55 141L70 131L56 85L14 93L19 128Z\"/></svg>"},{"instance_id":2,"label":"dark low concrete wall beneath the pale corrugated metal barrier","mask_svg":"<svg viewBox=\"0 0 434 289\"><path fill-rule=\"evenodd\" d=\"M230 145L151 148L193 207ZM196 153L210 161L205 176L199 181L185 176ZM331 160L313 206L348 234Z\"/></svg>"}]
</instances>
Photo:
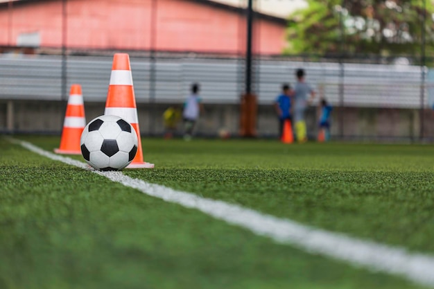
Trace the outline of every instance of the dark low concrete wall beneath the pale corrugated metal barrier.
<instances>
[{"instance_id":1,"label":"dark low concrete wall beneath the pale corrugated metal barrier","mask_svg":"<svg viewBox=\"0 0 434 289\"><path fill-rule=\"evenodd\" d=\"M104 103L85 102L87 122L104 112ZM170 105L179 103L138 103L137 114L142 136L164 134L162 114ZM9 107L9 108L8 108ZM60 101L0 100L0 133L43 133L59 134L62 131L65 105ZM331 135L340 138L339 119L344 120L343 139L354 140L398 140L418 139L420 114L415 109L376 109L366 107L336 107L331 114ZM306 126L311 140L318 132L318 110L310 107L306 112ZM434 114L424 111L424 137L434 139ZM182 121L177 134L182 134ZM196 134L217 136L222 128L238 137L240 128L240 106L225 104L205 105L205 114L200 117ZM277 139L278 121L272 105L259 105L257 116L258 137Z\"/></svg>"}]
</instances>

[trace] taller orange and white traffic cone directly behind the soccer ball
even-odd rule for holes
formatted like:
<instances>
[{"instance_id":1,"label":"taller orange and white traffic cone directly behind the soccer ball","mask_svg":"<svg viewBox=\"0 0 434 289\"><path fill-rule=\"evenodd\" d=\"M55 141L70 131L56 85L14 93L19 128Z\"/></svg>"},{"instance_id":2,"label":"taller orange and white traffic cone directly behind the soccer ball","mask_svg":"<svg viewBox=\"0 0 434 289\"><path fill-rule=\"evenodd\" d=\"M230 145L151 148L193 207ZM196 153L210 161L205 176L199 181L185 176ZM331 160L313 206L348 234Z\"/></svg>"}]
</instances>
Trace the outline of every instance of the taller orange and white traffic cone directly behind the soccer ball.
<instances>
[{"instance_id":1,"label":"taller orange and white traffic cone directly behind the soccer ball","mask_svg":"<svg viewBox=\"0 0 434 289\"><path fill-rule=\"evenodd\" d=\"M153 168L154 164L145 162L143 158L139 118L137 117L136 99L132 85L130 56L127 53L114 54L104 114L120 116L125 121L131 123L136 131L137 139L139 140L138 150L127 168Z\"/></svg>"}]
</instances>

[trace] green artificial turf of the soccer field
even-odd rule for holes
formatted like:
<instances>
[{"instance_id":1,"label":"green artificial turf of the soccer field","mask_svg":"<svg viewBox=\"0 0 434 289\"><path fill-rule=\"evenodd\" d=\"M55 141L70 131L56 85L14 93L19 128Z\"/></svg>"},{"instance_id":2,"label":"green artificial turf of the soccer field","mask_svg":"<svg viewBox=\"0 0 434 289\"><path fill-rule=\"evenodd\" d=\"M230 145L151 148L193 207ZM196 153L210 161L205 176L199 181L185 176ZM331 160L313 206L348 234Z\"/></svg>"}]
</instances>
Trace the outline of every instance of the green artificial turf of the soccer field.
<instances>
[{"instance_id":1,"label":"green artificial turf of the soccer field","mask_svg":"<svg viewBox=\"0 0 434 289\"><path fill-rule=\"evenodd\" d=\"M60 141L15 139L50 153ZM434 264L434 146L200 139L142 145L154 169L96 174L0 138L0 288L434 287L424 275L424 264ZM144 188L116 179L138 179ZM164 185L155 191L168 200L147 195L148 184ZM347 238L354 251L358 243L382 245L379 255L390 264L399 263L388 259L391 248L428 261L417 263L420 275L395 274L392 265L379 270L376 260L364 265L309 249L301 236L292 243L280 240L279 230L258 233L248 227L256 219L229 224L232 216L209 213L220 202L200 211L200 204L173 202L172 191L321 229Z\"/></svg>"}]
</instances>

